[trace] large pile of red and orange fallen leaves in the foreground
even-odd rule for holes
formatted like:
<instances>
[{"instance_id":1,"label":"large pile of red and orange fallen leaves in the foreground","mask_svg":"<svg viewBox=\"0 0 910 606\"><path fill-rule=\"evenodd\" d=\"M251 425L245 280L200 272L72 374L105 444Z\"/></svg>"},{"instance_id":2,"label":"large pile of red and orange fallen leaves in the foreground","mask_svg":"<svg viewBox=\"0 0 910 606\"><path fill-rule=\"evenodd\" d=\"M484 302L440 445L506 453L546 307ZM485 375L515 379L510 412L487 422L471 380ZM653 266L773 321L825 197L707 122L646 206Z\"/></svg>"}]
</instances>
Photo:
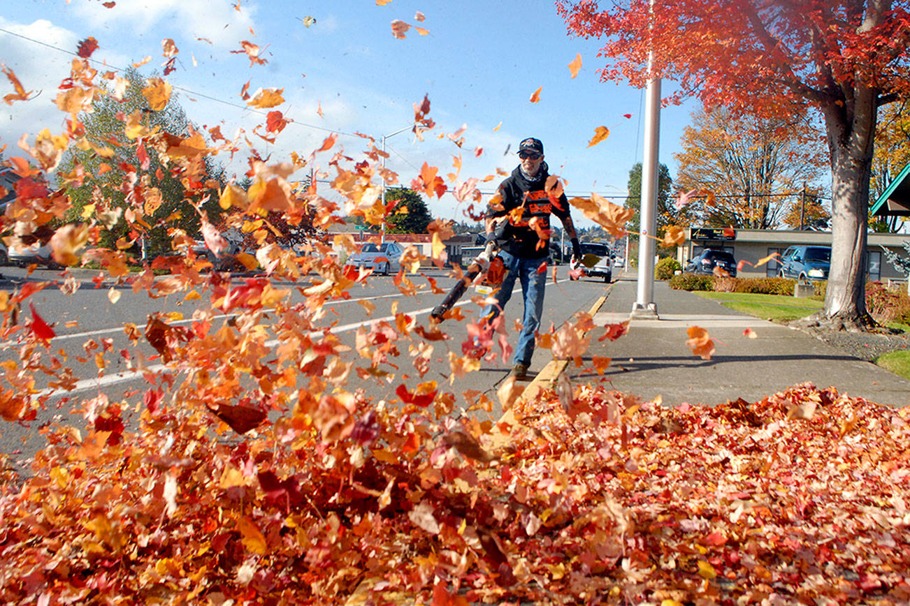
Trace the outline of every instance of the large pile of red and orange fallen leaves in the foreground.
<instances>
[{"instance_id":1,"label":"large pile of red and orange fallen leaves in the foreground","mask_svg":"<svg viewBox=\"0 0 910 606\"><path fill-rule=\"evenodd\" d=\"M163 405L126 433L110 406L5 483L0 600L910 600L906 411L811 385L559 402L490 425L323 398L242 439Z\"/></svg>"}]
</instances>

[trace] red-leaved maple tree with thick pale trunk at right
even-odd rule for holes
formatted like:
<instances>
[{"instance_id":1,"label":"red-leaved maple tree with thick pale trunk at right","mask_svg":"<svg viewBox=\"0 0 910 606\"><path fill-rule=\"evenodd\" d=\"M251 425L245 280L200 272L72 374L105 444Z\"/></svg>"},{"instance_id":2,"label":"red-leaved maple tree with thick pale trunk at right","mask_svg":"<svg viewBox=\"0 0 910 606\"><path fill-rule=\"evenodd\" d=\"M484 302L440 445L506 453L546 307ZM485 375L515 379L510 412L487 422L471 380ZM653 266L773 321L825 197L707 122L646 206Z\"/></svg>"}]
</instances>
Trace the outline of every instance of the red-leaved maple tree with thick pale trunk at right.
<instances>
[{"instance_id":1,"label":"red-leaved maple tree with thick pale trunk at right","mask_svg":"<svg viewBox=\"0 0 910 606\"><path fill-rule=\"evenodd\" d=\"M603 80L672 78L672 100L773 115L821 114L832 168L831 273L813 322L872 323L864 303L869 175L878 108L910 92L906 0L678 0L601 8L560 0L571 34L601 37ZM648 55L652 53L649 71Z\"/></svg>"}]
</instances>

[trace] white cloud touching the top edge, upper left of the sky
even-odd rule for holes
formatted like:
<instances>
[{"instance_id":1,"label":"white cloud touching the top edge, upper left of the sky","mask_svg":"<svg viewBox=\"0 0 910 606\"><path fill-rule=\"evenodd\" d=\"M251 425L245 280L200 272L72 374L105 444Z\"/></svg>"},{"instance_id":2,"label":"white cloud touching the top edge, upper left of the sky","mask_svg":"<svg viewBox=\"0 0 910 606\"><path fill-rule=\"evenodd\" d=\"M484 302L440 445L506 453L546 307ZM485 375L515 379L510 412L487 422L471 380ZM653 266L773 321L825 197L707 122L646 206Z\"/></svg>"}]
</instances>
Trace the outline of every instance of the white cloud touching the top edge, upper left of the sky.
<instances>
[{"instance_id":1,"label":"white cloud touching the top edge, upper left of the sky","mask_svg":"<svg viewBox=\"0 0 910 606\"><path fill-rule=\"evenodd\" d=\"M206 38L218 48L238 48L240 40L252 35L249 29L256 29L257 6L240 5L237 10L229 0L116 0L113 8L99 2L80 2L73 8L93 31L115 26L146 35L162 25L192 38Z\"/></svg>"}]
</instances>

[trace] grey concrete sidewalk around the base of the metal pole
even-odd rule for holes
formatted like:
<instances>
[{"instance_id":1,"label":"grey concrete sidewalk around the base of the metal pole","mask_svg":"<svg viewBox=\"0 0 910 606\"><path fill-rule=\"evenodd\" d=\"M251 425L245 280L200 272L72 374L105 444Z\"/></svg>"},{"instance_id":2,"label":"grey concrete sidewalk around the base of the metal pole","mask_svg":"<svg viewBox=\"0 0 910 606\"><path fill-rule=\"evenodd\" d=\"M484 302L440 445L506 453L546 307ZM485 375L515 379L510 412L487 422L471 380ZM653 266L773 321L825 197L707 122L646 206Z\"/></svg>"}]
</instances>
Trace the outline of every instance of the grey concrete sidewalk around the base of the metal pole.
<instances>
[{"instance_id":1,"label":"grey concrete sidewalk around the base of the metal pole","mask_svg":"<svg viewBox=\"0 0 910 606\"><path fill-rule=\"evenodd\" d=\"M636 298L631 274L609 287L594 314L598 327L628 320ZM834 386L837 392L892 406L910 404L910 381L873 363L854 358L802 331L733 312L697 294L654 283L659 320L635 319L628 334L598 342L603 331L591 331L590 355L612 358L604 376L612 386L645 400L661 395L665 404L718 404L743 398L749 402L801 382ZM702 360L686 345L686 329L701 326L711 335L715 352ZM743 335L751 328L757 338ZM590 358L589 358L590 360ZM598 375L565 371L573 382L596 381Z\"/></svg>"}]
</instances>

